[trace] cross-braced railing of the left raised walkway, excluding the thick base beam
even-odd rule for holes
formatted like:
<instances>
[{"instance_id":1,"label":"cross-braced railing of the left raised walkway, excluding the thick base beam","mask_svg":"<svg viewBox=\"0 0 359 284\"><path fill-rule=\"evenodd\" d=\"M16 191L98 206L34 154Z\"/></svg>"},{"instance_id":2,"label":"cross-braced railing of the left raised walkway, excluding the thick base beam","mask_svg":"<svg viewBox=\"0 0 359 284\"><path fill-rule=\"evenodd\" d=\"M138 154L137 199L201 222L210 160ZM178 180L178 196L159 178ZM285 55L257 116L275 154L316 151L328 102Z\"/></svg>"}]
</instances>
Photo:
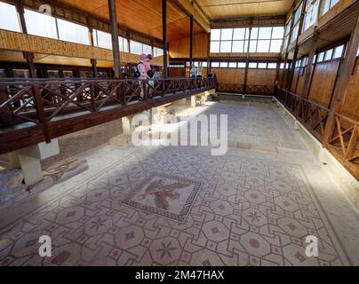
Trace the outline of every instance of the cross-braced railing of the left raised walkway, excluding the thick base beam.
<instances>
[{"instance_id":1,"label":"cross-braced railing of the left raised walkway, excluding the thick base beam","mask_svg":"<svg viewBox=\"0 0 359 284\"><path fill-rule=\"evenodd\" d=\"M42 124L52 122L60 114L69 112L99 112L106 106L127 106L158 99L180 92L213 88L211 78L171 78L166 80L137 79L6 79L0 81L0 126L21 122ZM141 99L142 100L142 99Z\"/></svg>"}]
</instances>

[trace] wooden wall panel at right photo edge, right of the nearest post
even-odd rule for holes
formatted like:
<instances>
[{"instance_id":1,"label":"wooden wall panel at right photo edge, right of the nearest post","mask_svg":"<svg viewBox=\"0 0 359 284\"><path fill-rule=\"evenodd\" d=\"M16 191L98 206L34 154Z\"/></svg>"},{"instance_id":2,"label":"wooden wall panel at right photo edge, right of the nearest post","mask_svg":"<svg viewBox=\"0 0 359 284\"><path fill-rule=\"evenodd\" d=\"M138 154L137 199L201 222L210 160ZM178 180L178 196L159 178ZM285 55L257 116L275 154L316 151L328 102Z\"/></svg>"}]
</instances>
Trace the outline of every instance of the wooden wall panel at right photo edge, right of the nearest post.
<instances>
[{"instance_id":1,"label":"wooden wall panel at right photo edge, right of the nearest post","mask_svg":"<svg viewBox=\"0 0 359 284\"><path fill-rule=\"evenodd\" d=\"M350 78L347 98L341 113L359 121L359 58L356 58L355 71Z\"/></svg>"}]
</instances>

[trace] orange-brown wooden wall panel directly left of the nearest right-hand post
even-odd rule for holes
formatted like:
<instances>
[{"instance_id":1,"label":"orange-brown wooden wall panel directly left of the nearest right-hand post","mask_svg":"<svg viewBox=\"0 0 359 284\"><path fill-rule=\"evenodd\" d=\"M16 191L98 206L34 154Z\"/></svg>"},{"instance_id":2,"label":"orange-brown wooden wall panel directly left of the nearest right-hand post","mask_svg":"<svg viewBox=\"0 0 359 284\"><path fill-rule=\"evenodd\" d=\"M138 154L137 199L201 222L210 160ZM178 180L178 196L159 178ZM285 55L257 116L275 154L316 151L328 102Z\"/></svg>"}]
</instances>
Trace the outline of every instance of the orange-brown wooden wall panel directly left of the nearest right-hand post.
<instances>
[{"instance_id":1,"label":"orange-brown wooden wall panel directly left of the nearest right-hand post","mask_svg":"<svg viewBox=\"0 0 359 284\"><path fill-rule=\"evenodd\" d=\"M316 64L309 99L323 106L329 106L338 68L339 60Z\"/></svg>"}]
</instances>

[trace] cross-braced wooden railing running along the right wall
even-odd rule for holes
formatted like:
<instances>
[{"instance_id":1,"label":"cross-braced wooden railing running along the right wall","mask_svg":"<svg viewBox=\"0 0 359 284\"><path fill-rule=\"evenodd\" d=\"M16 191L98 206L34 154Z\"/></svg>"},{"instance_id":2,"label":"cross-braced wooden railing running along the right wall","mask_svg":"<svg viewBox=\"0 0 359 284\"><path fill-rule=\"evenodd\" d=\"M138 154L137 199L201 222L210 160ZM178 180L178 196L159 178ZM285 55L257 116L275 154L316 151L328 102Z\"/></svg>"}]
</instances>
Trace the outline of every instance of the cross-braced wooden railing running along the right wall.
<instances>
[{"instance_id":1,"label":"cross-braced wooden railing running along the right wall","mask_svg":"<svg viewBox=\"0 0 359 284\"><path fill-rule=\"evenodd\" d=\"M359 122L279 87L275 97L359 179Z\"/></svg>"}]
</instances>

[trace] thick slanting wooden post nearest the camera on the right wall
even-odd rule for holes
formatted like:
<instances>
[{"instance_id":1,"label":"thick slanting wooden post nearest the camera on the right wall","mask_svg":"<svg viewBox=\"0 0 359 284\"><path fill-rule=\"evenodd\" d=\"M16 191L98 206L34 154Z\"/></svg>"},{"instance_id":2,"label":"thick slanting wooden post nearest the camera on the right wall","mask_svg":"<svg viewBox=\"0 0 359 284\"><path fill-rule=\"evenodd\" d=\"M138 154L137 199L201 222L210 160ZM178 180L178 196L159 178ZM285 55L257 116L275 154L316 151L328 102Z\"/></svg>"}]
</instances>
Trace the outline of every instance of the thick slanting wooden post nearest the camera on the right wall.
<instances>
[{"instance_id":1,"label":"thick slanting wooden post nearest the camera on the right wall","mask_svg":"<svg viewBox=\"0 0 359 284\"><path fill-rule=\"evenodd\" d=\"M344 102L347 98L347 91L349 89L350 78L353 75L355 67L356 52L359 46L359 10L356 12L356 25L352 31L349 43L347 43L346 56L343 62L342 72L337 81L337 87L335 88L332 102L331 112L328 117L328 122L325 125L325 131L323 135L323 146L328 146L328 141L332 136L335 129L335 113L340 114Z\"/></svg>"}]
</instances>

